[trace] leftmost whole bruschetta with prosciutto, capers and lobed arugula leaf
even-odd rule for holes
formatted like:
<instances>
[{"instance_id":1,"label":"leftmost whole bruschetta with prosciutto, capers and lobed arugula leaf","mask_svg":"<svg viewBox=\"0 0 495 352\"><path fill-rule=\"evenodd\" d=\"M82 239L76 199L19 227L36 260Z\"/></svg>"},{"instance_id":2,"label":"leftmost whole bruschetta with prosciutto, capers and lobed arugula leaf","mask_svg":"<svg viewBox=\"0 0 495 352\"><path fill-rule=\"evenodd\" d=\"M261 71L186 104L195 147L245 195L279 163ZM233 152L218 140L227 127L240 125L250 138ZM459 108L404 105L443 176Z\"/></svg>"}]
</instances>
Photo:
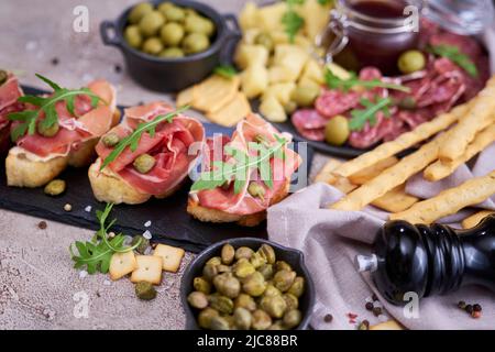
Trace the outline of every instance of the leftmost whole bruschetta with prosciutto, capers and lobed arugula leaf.
<instances>
[{"instance_id":1,"label":"leftmost whole bruschetta with prosciutto, capers and lobed arugula leaf","mask_svg":"<svg viewBox=\"0 0 495 352\"><path fill-rule=\"evenodd\" d=\"M9 186L40 187L69 165L89 165L96 143L120 119L116 89L108 81L69 90L38 77L54 92L20 97L23 110L8 114L15 143L6 161Z\"/></svg>"}]
</instances>

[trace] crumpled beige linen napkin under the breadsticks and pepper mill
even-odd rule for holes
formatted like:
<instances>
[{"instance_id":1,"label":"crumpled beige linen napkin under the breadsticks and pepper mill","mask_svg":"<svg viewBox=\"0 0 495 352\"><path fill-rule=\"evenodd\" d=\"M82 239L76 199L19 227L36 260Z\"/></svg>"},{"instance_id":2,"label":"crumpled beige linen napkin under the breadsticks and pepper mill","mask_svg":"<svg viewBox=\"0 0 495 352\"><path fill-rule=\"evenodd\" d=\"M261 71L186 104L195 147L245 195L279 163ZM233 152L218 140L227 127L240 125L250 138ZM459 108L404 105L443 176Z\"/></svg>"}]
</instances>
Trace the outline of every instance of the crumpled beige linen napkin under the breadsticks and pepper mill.
<instances>
[{"instance_id":1,"label":"crumpled beige linen napkin under the breadsticks and pepper mill","mask_svg":"<svg viewBox=\"0 0 495 352\"><path fill-rule=\"evenodd\" d=\"M495 143L485 150L472 169L462 166L453 175L438 183L427 183L421 175L414 177L407 190L421 197L430 197L446 187L452 187L495 169ZM302 189L283 202L268 209L270 239L305 253L306 264L316 285L317 304L311 326L316 329L355 329L361 320L371 324L385 320L365 309L376 288L369 274L360 274L353 265L358 253L370 253L370 244L387 213L373 207L363 211L337 211L327 206L343 195L336 188L316 184ZM481 205L495 210L494 199ZM468 216L464 213L463 217ZM459 217L453 217L459 221ZM447 219L449 220L449 219ZM451 220L452 221L452 220ZM450 221L449 221L450 222ZM380 297L380 294L376 293ZM473 319L457 307L459 300L480 304L481 319ZM421 299L418 318L406 318L402 307L395 307L380 297L380 302L393 317L409 329L494 329L495 293L469 286L442 297ZM330 314L331 322L324 317ZM355 314L351 322L349 314Z\"/></svg>"}]
</instances>

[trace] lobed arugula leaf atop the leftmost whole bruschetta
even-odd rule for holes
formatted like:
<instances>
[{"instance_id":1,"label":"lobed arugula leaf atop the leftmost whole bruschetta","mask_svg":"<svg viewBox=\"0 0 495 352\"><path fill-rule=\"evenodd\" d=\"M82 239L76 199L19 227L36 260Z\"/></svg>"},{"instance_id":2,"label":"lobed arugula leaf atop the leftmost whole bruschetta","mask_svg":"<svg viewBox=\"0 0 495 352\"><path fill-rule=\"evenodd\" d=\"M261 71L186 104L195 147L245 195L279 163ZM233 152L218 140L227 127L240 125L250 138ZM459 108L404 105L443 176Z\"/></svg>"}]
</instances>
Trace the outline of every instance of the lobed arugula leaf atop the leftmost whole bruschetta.
<instances>
[{"instance_id":1,"label":"lobed arugula leaf atop the leftmost whole bruschetta","mask_svg":"<svg viewBox=\"0 0 495 352\"><path fill-rule=\"evenodd\" d=\"M67 105L67 110L73 114L75 113L75 101L76 97L80 95L88 96L91 98L91 107L96 107L100 100L100 97L95 95L89 88L80 89L67 89L62 88L54 81L50 80L42 75L36 74L36 77L47 84L54 90L53 95L50 97L37 97L37 96L23 96L18 99L20 102L30 103L36 107L34 110L24 110L21 112L9 113L8 119L11 121L20 121L11 132L11 139L13 142L19 140L24 134L34 134L36 131L36 121L40 119L42 112L45 113L45 118L40 123L43 128L50 129L58 121L58 113L55 109L55 105L58 101L65 101Z\"/></svg>"}]
</instances>

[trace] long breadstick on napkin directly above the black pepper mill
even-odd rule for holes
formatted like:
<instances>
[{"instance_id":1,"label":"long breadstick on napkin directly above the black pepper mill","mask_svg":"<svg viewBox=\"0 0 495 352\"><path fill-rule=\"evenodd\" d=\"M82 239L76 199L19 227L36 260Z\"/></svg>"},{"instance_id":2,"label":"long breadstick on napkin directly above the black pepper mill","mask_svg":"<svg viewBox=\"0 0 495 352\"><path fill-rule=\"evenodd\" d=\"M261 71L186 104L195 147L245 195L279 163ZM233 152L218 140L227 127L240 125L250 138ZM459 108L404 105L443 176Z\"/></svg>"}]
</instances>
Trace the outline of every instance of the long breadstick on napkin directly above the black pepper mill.
<instances>
[{"instance_id":1,"label":"long breadstick on napkin directly above the black pepper mill","mask_svg":"<svg viewBox=\"0 0 495 352\"><path fill-rule=\"evenodd\" d=\"M477 205L495 194L495 170L472 178L462 185L441 191L433 198L417 202L406 211L391 215L391 220L410 223L432 223L459 210Z\"/></svg>"}]
</instances>

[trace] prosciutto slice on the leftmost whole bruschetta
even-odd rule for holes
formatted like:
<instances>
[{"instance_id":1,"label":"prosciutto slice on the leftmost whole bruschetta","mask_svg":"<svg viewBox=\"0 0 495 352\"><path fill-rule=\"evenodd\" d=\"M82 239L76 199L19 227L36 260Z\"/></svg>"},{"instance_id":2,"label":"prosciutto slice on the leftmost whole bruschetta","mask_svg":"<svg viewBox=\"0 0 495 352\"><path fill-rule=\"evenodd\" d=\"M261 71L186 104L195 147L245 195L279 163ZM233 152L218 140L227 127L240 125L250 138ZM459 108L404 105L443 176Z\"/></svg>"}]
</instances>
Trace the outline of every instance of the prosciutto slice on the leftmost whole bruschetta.
<instances>
[{"instance_id":1,"label":"prosciutto slice on the leftmost whole bruschetta","mask_svg":"<svg viewBox=\"0 0 495 352\"><path fill-rule=\"evenodd\" d=\"M76 97L75 114L67 110L65 101L58 101L55 103L59 124L57 134L52 138L38 133L26 134L16 141L18 146L41 157L55 154L67 155L82 142L100 138L110 130L116 110L113 87L105 80L95 80L88 85L88 88L102 99L96 108L91 107L91 99L85 95ZM26 107L26 109L33 109L33 107ZM44 119L43 112L40 119Z\"/></svg>"}]
</instances>

